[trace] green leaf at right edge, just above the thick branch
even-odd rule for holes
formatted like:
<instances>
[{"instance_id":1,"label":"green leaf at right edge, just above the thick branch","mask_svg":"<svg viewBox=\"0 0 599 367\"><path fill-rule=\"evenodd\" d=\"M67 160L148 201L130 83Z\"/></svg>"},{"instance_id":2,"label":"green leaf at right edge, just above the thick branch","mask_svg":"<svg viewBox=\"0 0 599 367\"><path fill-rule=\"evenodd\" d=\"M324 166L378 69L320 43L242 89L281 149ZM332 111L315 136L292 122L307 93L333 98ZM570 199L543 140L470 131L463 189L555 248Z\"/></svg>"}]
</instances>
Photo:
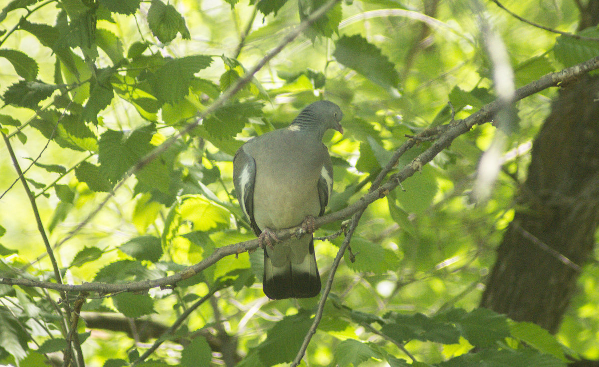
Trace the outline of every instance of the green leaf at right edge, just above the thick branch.
<instances>
[{"instance_id":1,"label":"green leaf at right edge, just above the thick branch","mask_svg":"<svg viewBox=\"0 0 599 367\"><path fill-rule=\"evenodd\" d=\"M599 29L586 28L578 34L585 37L599 38ZM568 68L599 55L599 43L560 35L555 39L553 54L564 67Z\"/></svg>"}]
</instances>

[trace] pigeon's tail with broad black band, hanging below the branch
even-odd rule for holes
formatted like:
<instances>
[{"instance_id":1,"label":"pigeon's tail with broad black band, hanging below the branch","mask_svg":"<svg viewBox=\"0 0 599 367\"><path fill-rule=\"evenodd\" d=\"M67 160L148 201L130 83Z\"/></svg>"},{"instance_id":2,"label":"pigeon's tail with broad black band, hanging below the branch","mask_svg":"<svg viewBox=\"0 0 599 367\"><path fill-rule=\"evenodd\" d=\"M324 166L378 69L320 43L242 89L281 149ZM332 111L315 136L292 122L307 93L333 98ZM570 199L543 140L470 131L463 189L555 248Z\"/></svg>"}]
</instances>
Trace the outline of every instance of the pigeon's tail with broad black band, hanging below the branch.
<instances>
[{"instance_id":1,"label":"pigeon's tail with broad black band, hanging below the branch","mask_svg":"<svg viewBox=\"0 0 599 367\"><path fill-rule=\"evenodd\" d=\"M299 264L286 261L284 266L273 266L265 248L262 290L270 299L317 296L320 293L320 275L314 255L314 239L310 238L308 255Z\"/></svg>"}]
</instances>

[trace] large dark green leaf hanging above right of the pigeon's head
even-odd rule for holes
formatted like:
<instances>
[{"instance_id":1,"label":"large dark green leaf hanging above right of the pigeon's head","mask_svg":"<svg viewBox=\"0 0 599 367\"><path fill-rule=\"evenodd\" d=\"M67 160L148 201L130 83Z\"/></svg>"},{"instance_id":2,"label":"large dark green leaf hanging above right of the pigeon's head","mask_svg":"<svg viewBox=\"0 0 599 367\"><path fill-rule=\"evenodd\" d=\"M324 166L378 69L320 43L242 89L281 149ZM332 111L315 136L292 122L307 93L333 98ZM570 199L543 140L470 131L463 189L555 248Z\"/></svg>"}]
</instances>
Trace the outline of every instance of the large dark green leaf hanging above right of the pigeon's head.
<instances>
[{"instance_id":1,"label":"large dark green leaf hanging above right of the pigeon's head","mask_svg":"<svg viewBox=\"0 0 599 367\"><path fill-rule=\"evenodd\" d=\"M335 42L335 59L384 87L397 87L400 76L380 49L361 35L343 35Z\"/></svg>"}]
</instances>

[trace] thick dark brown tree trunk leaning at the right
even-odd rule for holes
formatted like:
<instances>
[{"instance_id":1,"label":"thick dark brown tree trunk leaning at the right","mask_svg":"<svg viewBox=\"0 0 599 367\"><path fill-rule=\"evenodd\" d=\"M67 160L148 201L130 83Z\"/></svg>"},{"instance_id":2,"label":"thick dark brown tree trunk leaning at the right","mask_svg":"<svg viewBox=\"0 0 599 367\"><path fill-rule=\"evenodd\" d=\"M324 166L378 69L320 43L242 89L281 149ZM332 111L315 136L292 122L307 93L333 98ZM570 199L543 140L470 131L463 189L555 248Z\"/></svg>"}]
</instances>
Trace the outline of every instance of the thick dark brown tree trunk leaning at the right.
<instances>
[{"instance_id":1,"label":"thick dark brown tree trunk leaning at the right","mask_svg":"<svg viewBox=\"0 0 599 367\"><path fill-rule=\"evenodd\" d=\"M480 306L555 333L599 224L599 78L564 86L534 140Z\"/></svg>"}]
</instances>

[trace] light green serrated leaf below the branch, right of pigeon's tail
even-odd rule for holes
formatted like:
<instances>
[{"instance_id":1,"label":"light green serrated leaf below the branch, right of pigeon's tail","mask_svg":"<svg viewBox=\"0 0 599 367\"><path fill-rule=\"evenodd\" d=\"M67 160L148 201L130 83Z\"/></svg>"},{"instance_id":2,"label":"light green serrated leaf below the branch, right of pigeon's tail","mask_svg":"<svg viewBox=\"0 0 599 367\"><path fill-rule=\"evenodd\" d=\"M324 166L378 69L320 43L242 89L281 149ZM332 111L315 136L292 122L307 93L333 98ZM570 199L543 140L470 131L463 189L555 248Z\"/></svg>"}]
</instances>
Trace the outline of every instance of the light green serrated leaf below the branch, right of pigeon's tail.
<instances>
[{"instance_id":1,"label":"light green serrated leaf below the branch, right of pigeon's tail","mask_svg":"<svg viewBox=\"0 0 599 367\"><path fill-rule=\"evenodd\" d=\"M384 273L395 269L399 260L395 255L388 256L379 243L361 237L352 238L352 252L356 255L356 261L350 261L349 251L346 251L344 258L347 266L356 272Z\"/></svg>"}]
</instances>

